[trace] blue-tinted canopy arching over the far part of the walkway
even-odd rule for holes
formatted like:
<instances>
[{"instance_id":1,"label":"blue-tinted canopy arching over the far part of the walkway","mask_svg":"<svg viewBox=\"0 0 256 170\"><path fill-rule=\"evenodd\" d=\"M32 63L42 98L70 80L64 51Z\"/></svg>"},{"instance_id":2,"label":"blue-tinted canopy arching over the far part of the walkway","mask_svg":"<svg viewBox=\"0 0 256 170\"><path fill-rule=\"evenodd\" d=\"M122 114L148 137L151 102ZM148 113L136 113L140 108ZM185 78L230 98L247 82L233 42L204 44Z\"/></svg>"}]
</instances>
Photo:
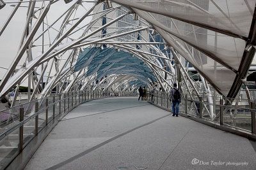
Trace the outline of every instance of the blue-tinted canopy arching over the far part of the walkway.
<instances>
[{"instance_id":1,"label":"blue-tinted canopy arching over the far part of the walkway","mask_svg":"<svg viewBox=\"0 0 256 170\"><path fill-rule=\"evenodd\" d=\"M117 52L115 48L84 48L84 52L80 53L77 59L75 71L87 66L86 76L97 73L98 80L109 74L127 74L145 83L156 81L152 71L142 60L123 50Z\"/></svg>"}]
</instances>

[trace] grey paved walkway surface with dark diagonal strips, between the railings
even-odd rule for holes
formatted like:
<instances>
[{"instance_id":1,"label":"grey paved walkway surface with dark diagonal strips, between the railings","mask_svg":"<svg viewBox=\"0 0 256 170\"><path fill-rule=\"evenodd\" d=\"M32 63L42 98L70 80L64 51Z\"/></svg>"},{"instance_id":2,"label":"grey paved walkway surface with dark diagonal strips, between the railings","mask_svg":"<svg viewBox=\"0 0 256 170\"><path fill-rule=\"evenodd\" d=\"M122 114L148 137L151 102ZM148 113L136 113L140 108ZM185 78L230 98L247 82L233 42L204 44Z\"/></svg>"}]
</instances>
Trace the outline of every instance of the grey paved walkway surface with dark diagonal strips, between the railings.
<instances>
[{"instance_id":1,"label":"grey paved walkway surface with dark diagonal strips, between the railings","mask_svg":"<svg viewBox=\"0 0 256 170\"><path fill-rule=\"evenodd\" d=\"M255 160L255 142L118 97L68 113L26 169L256 169Z\"/></svg>"}]
</instances>

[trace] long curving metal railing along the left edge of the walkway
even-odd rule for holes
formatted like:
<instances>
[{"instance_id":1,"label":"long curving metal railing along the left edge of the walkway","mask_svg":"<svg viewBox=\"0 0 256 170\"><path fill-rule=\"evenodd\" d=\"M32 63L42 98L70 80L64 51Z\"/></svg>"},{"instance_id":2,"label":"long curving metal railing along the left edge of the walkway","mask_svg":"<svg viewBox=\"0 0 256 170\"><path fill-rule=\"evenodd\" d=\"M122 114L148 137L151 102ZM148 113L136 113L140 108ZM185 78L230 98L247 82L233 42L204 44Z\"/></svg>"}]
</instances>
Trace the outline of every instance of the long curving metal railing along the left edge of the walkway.
<instances>
[{"instance_id":1,"label":"long curving metal railing along the left edge of the walkway","mask_svg":"<svg viewBox=\"0 0 256 170\"><path fill-rule=\"evenodd\" d=\"M0 111L0 166L4 169L52 120L58 120L85 101L104 97L138 96L137 93L73 91Z\"/></svg>"}]
</instances>

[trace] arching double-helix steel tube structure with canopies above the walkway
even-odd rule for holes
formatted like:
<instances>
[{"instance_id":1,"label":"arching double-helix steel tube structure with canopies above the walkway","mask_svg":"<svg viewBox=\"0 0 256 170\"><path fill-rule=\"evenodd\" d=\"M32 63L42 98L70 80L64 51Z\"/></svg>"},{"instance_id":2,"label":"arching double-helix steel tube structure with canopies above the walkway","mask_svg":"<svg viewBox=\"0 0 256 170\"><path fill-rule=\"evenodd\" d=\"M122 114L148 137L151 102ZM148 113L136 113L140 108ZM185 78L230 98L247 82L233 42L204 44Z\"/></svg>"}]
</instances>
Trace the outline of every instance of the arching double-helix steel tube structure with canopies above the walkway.
<instances>
[{"instance_id":1,"label":"arching double-helix steel tube structure with canopies above the walkway","mask_svg":"<svg viewBox=\"0 0 256 170\"><path fill-rule=\"evenodd\" d=\"M63 101L72 92L131 96L140 86L151 93L158 85L168 103L174 83L186 111L189 101L195 112L200 103L201 117L220 120L216 104L223 99L232 124L237 110L228 107L255 109L246 81L256 70L255 3L0 0L0 105L9 110L1 113L1 125L15 122L19 110L10 108L27 103L29 117L36 101L40 108L47 97Z\"/></svg>"}]
</instances>

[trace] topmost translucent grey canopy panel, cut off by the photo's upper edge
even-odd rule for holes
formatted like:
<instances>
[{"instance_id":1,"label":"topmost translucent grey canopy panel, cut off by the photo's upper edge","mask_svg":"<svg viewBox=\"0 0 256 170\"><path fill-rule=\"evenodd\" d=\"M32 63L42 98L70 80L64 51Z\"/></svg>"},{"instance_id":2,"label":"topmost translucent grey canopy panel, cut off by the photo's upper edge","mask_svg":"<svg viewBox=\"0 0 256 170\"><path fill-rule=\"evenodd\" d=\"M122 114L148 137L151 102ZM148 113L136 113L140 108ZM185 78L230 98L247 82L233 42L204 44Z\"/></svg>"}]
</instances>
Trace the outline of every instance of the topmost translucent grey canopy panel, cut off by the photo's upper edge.
<instances>
[{"instance_id":1,"label":"topmost translucent grey canopy panel, cut off by the photo's upper edge","mask_svg":"<svg viewBox=\"0 0 256 170\"><path fill-rule=\"evenodd\" d=\"M158 13L201 27L247 37L255 0L113 0L129 7ZM237 10L239 9L239 10Z\"/></svg>"}]
</instances>

